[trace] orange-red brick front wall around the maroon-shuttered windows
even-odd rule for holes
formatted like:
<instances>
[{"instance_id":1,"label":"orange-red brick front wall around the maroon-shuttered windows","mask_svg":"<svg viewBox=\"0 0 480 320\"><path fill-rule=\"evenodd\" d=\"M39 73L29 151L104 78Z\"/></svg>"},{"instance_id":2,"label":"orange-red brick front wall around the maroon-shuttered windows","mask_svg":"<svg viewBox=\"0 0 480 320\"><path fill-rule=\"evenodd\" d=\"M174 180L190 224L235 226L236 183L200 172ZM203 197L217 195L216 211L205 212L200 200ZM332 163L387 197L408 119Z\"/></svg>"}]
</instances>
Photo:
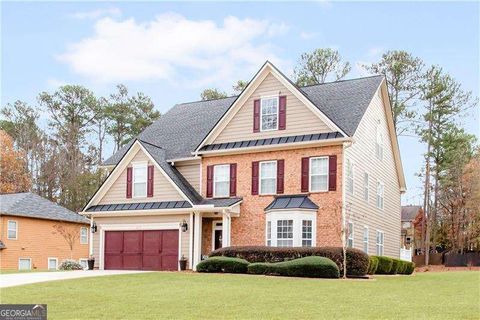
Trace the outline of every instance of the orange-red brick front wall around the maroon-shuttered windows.
<instances>
[{"instance_id":1,"label":"orange-red brick front wall around the maroon-shuttered windows","mask_svg":"<svg viewBox=\"0 0 480 320\"><path fill-rule=\"evenodd\" d=\"M284 195L301 194L301 159L303 157L337 155L337 189L329 192L310 193L310 199L319 209L317 212L317 246L341 246L341 204L342 204L342 146L259 152L250 154L204 157L202 159L202 181L206 183L208 165L237 164L237 196L243 197L240 217L232 218L231 245L265 245L265 207L272 202L273 196L252 195L252 161L285 160ZM202 188L206 197L206 186ZM203 253L211 250L211 223L205 226ZM208 228L208 230L206 230ZM205 234L207 232L207 234Z\"/></svg>"}]
</instances>

